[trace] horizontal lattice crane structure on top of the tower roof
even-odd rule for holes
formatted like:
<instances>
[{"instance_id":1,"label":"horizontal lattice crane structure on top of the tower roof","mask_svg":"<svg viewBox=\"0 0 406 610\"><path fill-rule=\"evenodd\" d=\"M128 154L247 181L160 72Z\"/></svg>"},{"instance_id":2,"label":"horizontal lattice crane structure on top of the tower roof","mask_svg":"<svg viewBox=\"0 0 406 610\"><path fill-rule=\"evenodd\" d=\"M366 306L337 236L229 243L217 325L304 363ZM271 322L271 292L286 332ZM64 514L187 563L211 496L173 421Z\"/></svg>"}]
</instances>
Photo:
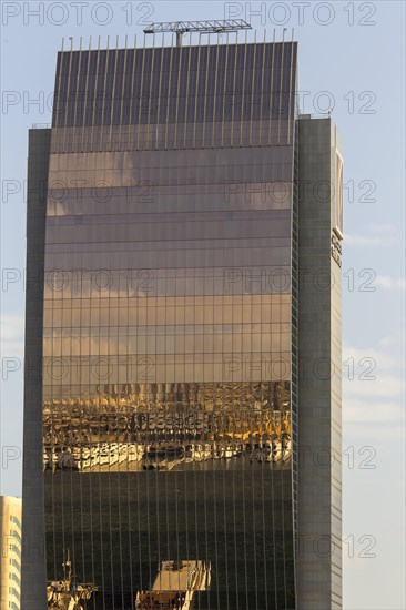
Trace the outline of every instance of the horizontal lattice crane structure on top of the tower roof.
<instances>
[{"instance_id":1,"label":"horizontal lattice crane structure on top of the tower roof","mask_svg":"<svg viewBox=\"0 0 406 610\"><path fill-rule=\"evenodd\" d=\"M145 34L155 33L176 33L176 47L182 47L182 35L186 32L200 32L203 34L210 33L226 33L236 32L237 30L251 30L250 23L244 19L229 19L226 21L166 21L162 23L150 23L144 29Z\"/></svg>"}]
</instances>

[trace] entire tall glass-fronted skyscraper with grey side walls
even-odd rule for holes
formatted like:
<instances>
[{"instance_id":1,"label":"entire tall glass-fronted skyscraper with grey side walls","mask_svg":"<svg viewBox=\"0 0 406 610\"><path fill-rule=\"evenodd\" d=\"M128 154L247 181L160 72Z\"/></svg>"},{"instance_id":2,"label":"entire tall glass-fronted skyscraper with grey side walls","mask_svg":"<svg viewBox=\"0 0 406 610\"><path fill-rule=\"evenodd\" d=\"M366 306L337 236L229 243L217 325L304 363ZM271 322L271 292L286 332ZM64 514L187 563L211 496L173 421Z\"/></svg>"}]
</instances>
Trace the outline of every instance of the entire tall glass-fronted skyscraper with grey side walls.
<instances>
[{"instance_id":1,"label":"entire tall glass-fronted skyscraper with grey side walls","mask_svg":"<svg viewBox=\"0 0 406 610\"><path fill-rule=\"evenodd\" d=\"M98 610L341 608L342 157L297 114L296 54L58 54L29 146L23 610L61 581Z\"/></svg>"}]
</instances>

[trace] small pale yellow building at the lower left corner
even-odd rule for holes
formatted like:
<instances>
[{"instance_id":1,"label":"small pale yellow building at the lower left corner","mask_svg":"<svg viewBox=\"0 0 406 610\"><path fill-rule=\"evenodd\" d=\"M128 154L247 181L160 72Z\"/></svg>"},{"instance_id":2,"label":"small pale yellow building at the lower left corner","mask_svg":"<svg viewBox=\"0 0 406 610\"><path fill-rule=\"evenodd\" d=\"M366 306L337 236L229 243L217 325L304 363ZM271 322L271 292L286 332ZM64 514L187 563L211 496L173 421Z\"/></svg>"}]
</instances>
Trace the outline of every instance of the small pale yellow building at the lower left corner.
<instances>
[{"instance_id":1,"label":"small pale yellow building at the lower left corner","mask_svg":"<svg viewBox=\"0 0 406 610\"><path fill-rule=\"evenodd\" d=\"M0 496L0 608L20 609L21 498Z\"/></svg>"}]
</instances>

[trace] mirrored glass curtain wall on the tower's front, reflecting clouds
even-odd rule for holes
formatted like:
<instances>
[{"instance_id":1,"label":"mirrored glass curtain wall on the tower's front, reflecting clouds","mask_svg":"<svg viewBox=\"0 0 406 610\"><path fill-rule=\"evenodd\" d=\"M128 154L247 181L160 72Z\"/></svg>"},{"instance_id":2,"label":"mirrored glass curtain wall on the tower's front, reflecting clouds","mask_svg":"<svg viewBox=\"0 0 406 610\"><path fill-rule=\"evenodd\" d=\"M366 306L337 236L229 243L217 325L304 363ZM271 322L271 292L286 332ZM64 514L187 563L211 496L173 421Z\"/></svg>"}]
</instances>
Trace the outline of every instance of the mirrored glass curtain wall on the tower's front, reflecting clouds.
<instances>
[{"instance_id":1,"label":"mirrored glass curtain wall on the tower's front, reflecting clouds","mask_svg":"<svg viewBox=\"0 0 406 610\"><path fill-rule=\"evenodd\" d=\"M69 551L87 608L295 608L295 79L296 43L235 37L58 55L47 573Z\"/></svg>"}]
</instances>

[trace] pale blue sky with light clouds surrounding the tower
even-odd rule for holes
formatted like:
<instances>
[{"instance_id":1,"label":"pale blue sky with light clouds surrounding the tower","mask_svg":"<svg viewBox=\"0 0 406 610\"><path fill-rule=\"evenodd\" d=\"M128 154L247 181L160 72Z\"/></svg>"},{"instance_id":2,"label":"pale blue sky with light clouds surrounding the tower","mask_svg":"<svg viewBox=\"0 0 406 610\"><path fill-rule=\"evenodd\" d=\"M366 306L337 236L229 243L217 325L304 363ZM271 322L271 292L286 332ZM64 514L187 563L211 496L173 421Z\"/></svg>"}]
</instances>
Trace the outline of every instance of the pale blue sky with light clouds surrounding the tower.
<instances>
[{"instance_id":1,"label":"pale blue sky with light clouds surrounding the tower","mask_svg":"<svg viewBox=\"0 0 406 610\"><path fill-rule=\"evenodd\" d=\"M61 39L69 43L73 37L78 48L79 37L88 44L90 35L93 41L100 35L103 47L110 35L115 45L115 35L121 44L125 34L132 41L151 21L227 17L250 21L260 30L260 39L264 28L270 40L274 28L276 40L284 27L288 38L294 28L301 110L317 115L334 108L346 185L344 608L400 610L406 607L399 587L404 575L403 1L2 2L1 491L19 495L21 486L21 459L6 458L19 450L11 447L21 447L23 376L18 358L23 350L28 129L51 120ZM8 370L12 365L16 370ZM367 366L374 378L363 378Z\"/></svg>"}]
</instances>

